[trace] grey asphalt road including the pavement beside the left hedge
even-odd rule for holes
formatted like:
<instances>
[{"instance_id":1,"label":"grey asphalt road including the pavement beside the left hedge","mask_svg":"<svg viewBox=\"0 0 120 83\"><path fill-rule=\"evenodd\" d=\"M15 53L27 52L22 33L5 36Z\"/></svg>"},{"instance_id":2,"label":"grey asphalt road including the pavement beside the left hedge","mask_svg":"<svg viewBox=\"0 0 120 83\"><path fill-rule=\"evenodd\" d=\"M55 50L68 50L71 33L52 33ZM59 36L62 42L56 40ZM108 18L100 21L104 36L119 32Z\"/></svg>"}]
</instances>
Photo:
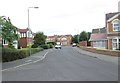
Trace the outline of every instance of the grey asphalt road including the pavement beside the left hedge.
<instances>
[{"instance_id":1,"label":"grey asphalt road including the pavement beside the left hedge","mask_svg":"<svg viewBox=\"0 0 120 83\"><path fill-rule=\"evenodd\" d=\"M50 49L23 59L3 64L3 81L117 81L118 65L65 46ZM46 56L40 59L39 56ZM19 64L19 62L21 64ZM9 64L9 65L7 65ZM15 64L15 65L14 65ZM23 65L22 65L23 64ZM24 65L25 64L25 65ZM19 65L19 66L17 66Z\"/></svg>"}]
</instances>

